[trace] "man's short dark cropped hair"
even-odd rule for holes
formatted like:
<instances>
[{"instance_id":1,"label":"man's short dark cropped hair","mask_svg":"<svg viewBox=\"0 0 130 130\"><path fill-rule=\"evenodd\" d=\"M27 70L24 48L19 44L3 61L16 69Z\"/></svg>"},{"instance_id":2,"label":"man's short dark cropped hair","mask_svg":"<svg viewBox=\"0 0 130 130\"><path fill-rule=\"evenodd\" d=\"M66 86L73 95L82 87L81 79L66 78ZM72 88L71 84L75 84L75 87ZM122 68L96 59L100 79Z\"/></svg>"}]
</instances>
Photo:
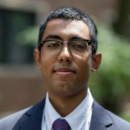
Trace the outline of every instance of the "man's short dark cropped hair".
<instances>
[{"instance_id":1,"label":"man's short dark cropped hair","mask_svg":"<svg viewBox=\"0 0 130 130\"><path fill-rule=\"evenodd\" d=\"M93 20L90 18L89 15L85 14L79 9L73 8L73 7L62 7L55 11L52 11L47 18L42 22L40 29L39 29L39 38L38 38L38 44L42 39L42 36L44 34L44 31L46 29L47 23L50 20L53 19L66 19L66 20L81 20L84 21L89 28L90 31L90 37L93 42L94 47L92 48L92 54L94 54L97 51L98 42L97 42L97 28ZM40 50L40 48L39 48Z\"/></svg>"}]
</instances>

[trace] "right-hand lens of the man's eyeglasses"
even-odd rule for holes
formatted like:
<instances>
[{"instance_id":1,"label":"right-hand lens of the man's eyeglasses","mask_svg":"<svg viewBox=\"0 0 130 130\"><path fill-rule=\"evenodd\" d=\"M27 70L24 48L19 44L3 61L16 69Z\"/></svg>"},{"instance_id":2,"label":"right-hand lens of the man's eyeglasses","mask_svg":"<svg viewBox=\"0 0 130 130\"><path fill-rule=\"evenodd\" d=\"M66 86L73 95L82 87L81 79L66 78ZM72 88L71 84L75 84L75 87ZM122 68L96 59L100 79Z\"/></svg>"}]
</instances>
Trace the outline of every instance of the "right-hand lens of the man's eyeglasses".
<instances>
[{"instance_id":1,"label":"right-hand lens of the man's eyeglasses","mask_svg":"<svg viewBox=\"0 0 130 130\"><path fill-rule=\"evenodd\" d=\"M83 40L75 40L70 43L70 48L72 53L82 55L88 51L88 43Z\"/></svg>"}]
</instances>

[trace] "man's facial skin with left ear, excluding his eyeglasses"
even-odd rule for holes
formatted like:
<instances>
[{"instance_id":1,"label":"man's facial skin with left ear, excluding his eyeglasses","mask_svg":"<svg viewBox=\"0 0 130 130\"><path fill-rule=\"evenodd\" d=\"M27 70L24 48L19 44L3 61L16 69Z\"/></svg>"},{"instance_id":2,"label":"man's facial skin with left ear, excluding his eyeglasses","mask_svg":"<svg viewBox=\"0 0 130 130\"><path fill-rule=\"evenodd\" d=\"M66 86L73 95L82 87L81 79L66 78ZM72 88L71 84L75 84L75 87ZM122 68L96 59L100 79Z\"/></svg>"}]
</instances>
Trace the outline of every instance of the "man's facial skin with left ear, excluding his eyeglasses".
<instances>
[{"instance_id":1,"label":"man's facial skin with left ear, excluding his eyeglasses","mask_svg":"<svg viewBox=\"0 0 130 130\"><path fill-rule=\"evenodd\" d=\"M55 35L55 37L51 37ZM48 37L48 38L47 38ZM48 22L42 40L70 41L74 37L91 39L88 26L83 21L54 19ZM49 94L71 96L87 92L92 70L92 46L83 55L73 54L68 44L58 55L47 55L43 47L34 52L38 68L42 71Z\"/></svg>"}]
</instances>

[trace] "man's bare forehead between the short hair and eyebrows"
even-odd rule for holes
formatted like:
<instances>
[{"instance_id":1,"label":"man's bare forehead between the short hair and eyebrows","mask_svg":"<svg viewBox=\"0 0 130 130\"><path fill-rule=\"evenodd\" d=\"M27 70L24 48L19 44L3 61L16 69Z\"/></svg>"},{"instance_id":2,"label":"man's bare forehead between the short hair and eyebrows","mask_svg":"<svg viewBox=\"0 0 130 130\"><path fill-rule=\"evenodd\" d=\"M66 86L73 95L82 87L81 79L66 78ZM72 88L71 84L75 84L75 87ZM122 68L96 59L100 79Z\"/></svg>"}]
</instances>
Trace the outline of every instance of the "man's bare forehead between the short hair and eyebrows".
<instances>
[{"instance_id":1,"label":"man's bare forehead between the short hair and eyebrows","mask_svg":"<svg viewBox=\"0 0 130 130\"><path fill-rule=\"evenodd\" d=\"M42 40L50 34L58 35L66 40L73 36L90 39L89 28L82 20L53 19L47 23Z\"/></svg>"}]
</instances>

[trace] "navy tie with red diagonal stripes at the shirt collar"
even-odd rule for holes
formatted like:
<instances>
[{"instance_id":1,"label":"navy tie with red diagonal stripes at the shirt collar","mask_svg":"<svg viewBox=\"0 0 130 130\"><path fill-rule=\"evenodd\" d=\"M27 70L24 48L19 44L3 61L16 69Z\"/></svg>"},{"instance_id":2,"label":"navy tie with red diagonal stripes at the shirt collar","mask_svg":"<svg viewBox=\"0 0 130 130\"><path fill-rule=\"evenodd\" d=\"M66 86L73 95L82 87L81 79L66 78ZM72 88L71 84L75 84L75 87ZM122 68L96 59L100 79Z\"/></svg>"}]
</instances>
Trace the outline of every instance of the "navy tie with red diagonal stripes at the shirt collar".
<instances>
[{"instance_id":1,"label":"navy tie with red diagonal stripes at the shirt collar","mask_svg":"<svg viewBox=\"0 0 130 130\"><path fill-rule=\"evenodd\" d=\"M66 120L57 119L52 125L52 130L71 130L71 128Z\"/></svg>"}]
</instances>

